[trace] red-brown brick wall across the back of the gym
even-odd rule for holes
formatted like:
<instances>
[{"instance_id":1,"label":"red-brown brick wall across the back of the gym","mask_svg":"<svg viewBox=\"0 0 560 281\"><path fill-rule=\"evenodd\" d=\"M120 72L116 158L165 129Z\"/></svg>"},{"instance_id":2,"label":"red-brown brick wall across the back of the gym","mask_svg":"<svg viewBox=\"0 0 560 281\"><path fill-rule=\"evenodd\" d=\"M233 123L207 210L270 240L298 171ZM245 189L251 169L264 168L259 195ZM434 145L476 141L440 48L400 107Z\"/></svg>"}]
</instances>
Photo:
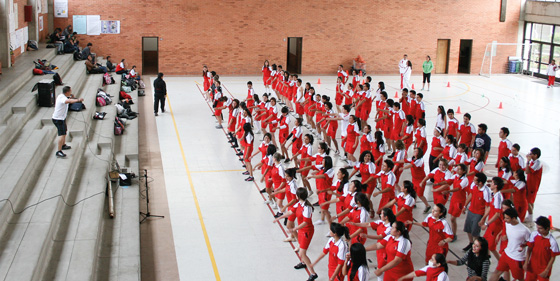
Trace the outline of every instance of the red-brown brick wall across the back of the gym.
<instances>
[{"instance_id":1,"label":"red-brown brick wall across the back of the gym","mask_svg":"<svg viewBox=\"0 0 560 281\"><path fill-rule=\"evenodd\" d=\"M517 42L521 0L508 1L504 23L500 2L73 0L69 18L54 25L71 24L72 15L120 20L120 35L79 40L138 68L142 37L160 37L159 70L168 75L198 75L203 64L221 74L257 74L265 59L285 65L287 37L303 37L304 74L333 73L358 54L369 73L396 74L403 53L419 74L426 54L436 60L437 39L451 39L449 73L457 73L460 39L473 39L471 71L478 73L487 43Z\"/></svg>"}]
</instances>

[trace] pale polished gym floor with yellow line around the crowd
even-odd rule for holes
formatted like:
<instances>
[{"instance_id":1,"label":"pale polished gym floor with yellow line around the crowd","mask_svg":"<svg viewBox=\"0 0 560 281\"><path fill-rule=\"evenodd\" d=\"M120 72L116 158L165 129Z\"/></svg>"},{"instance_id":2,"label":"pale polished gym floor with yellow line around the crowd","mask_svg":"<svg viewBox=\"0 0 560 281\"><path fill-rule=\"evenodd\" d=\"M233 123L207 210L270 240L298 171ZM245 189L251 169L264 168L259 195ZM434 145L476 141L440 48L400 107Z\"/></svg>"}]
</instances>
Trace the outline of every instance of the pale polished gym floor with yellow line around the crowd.
<instances>
[{"instance_id":1,"label":"pale polished gym floor with yellow line around the crowd","mask_svg":"<svg viewBox=\"0 0 560 281\"><path fill-rule=\"evenodd\" d=\"M335 76L300 78L311 82L318 93L334 98ZM322 83L317 85L319 78ZM412 77L417 90L421 88L420 79ZM144 161L141 158L140 165L141 168L155 169L157 178L151 184L162 188L151 189L150 199L155 202L151 211L166 215L164 219L151 219L142 226L142 242L146 247L142 252L143 279L306 280L308 273L305 270L293 269L299 262L293 251L295 245L282 242L286 237L285 227L272 222L273 210L263 204L264 198L258 192L262 188L258 181L260 174L256 174L255 183L245 182L246 176L241 174L242 164L228 145L224 131L214 128L216 120L200 93L201 77L166 77L165 80L168 87L165 113L157 117L152 115L149 93L142 101L145 111L141 135L144 130L143 136L151 141L144 146L141 142L141 150L144 147L150 156ZM262 77L221 77L224 92L241 100L246 96L249 80L253 81L256 93L262 95ZM373 81L384 81L390 97L395 95L400 82L397 76L374 76ZM450 87L447 87L448 82ZM494 148L485 169L488 175L496 174L493 163L500 127L509 127L509 139L521 145L523 155L532 147L540 147L545 166L534 217L552 215L560 219L560 191L557 187L560 87L547 89L544 80L528 76L437 75L433 77L431 90L421 92L425 96L429 139L438 105L455 110L460 107L462 113L469 112L473 116L474 124L484 122L488 125ZM502 108L499 108L500 103ZM456 117L461 120L461 116ZM262 135L256 136L258 145ZM336 168L344 165L338 157L334 160ZM257 159L253 163L256 164ZM405 171L401 181L409 178L410 172ZM301 186L301 180L299 184ZM430 191L428 186L426 195L429 200ZM311 200L315 201L316 195ZM373 201L375 207L378 200ZM414 217L422 220L424 206L420 201L418 206ZM319 217L317 209L313 215L315 221ZM448 259L463 255L461 248L467 244L467 236L461 231L463 223L464 216L459 219L458 241L450 244ZM533 224L527 226L534 229ZM328 240L325 237L327 232L328 225L315 226L308 251L311 260L322 251ZM559 236L558 232L554 235ZM415 268L424 265L427 237L426 230L413 227L411 240ZM368 258L373 272L375 253L368 252ZM493 258L491 268L496 264ZM317 265L316 271L318 280L328 279L326 258ZM553 276L558 273L560 268L556 266ZM451 280L465 280L467 276L465 267L455 266L450 266L449 275Z\"/></svg>"}]
</instances>

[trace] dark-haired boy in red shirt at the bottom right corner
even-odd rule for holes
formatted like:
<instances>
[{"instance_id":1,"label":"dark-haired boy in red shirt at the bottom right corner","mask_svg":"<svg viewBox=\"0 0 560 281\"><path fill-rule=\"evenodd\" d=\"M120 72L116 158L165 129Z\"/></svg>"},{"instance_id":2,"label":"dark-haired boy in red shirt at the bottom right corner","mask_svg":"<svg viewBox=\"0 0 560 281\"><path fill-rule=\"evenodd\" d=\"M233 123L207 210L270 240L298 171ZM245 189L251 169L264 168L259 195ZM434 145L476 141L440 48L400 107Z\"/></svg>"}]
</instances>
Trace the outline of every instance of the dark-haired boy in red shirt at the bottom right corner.
<instances>
[{"instance_id":1,"label":"dark-haired boy in red shirt at the bottom right corner","mask_svg":"<svg viewBox=\"0 0 560 281\"><path fill-rule=\"evenodd\" d=\"M527 272L526 281L550 280L552 265L556 256L560 255L558 243L550 233L551 222L545 217L538 217L535 221L537 230L531 233L527 242L527 257L523 270Z\"/></svg>"}]
</instances>

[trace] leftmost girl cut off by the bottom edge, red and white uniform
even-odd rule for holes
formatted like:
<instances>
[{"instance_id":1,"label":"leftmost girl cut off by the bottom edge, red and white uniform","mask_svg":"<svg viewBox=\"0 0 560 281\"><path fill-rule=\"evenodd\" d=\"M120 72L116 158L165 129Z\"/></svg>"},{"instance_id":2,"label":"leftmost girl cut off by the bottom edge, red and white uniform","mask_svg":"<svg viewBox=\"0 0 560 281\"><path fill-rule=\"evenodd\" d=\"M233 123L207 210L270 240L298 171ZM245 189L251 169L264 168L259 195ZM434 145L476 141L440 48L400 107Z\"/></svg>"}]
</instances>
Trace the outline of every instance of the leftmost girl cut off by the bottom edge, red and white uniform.
<instances>
[{"instance_id":1,"label":"leftmost girl cut off by the bottom edge, red and white uniform","mask_svg":"<svg viewBox=\"0 0 560 281\"><path fill-rule=\"evenodd\" d=\"M346 260L346 253L348 253L348 244L346 244L346 241L342 238L344 237L346 240L350 240L350 236L348 235L348 228L336 222L331 223L330 231L331 238L327 241L323 252L313 263L313 268L315 268L321 259L328 255L329 280L342 281L342 279L344 279L342 267Z\"/></svg>"}]
</instances>

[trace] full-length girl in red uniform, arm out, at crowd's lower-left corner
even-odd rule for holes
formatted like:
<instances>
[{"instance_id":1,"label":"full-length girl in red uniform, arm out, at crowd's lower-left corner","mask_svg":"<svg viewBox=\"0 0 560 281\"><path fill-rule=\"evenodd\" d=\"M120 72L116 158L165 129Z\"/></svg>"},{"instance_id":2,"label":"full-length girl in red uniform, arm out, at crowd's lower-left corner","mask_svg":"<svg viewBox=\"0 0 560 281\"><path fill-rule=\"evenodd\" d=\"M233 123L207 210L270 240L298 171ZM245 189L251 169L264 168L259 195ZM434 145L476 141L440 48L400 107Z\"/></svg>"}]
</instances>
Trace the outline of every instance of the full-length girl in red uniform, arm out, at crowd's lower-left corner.
<instances>
[{"instance_id":1,"label":"full-length girl in red uniform, arm out, at crowd's lower-left corner","mask_svg":"<svg viewBox=\"0 0 560 281\"><path fill-rule=\"evenodd\" d=\"M299 200L293 208L293 211L288 211L284 215L276 218L274 223L279 220L287 218L292 214L296 214L298 225L293 229L294 233L297 233L297 238L299 242L299 248L296 251L299 253L301 262L294 266L295 269L306 268L309 270L311 275L309 275L308 281L313 281L318 278L317 273L313 269L313 264L309 257L307 256L307 249L313 238L313 233L315 233L315 227L313 226L313 205L307 201L307 190L300 187L296 191L297 199Z\"/></svg>"}]
</instances>

